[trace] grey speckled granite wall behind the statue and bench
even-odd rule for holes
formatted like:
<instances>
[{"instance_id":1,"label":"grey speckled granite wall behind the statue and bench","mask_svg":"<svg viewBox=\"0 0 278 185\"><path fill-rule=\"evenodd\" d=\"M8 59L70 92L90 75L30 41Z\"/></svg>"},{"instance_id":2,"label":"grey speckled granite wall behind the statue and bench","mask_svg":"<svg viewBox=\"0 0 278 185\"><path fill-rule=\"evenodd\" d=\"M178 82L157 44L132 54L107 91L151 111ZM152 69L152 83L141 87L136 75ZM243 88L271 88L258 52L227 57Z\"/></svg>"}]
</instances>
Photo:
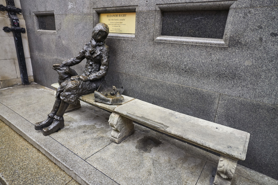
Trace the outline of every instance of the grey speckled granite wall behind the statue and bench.
<instances>
[{"instance_id":1,"label":"grey speckled granite wall behind the statue and bench","mask_svg":"<svg viewBox=\"0 0 278 185\"><path fill-rule=\"evenodd\" d=\"M35 82L90 40L99 13L135 12L135 35L110 34L106 77L125 95L251 134L239 164L278 179L278 1L22 0ZM163 11L229 9L223 39L161 36ZM56 33L34 12L54 11ZM74 69L81 73L85 61Z\"/></svg>"}]
</instances>

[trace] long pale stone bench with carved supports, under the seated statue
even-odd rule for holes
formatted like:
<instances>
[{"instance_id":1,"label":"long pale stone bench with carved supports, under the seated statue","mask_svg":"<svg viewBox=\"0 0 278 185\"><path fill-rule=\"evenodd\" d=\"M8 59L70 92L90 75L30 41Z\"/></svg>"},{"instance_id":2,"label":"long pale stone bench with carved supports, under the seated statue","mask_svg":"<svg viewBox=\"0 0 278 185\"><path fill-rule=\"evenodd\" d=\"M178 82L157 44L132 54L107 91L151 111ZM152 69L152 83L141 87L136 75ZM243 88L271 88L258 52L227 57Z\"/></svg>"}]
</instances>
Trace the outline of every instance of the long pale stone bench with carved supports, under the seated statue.
<instances>
[{"instance_id":1,"label":"long pale stone bench with carved supports, under the seated statue","mask_svg":"<svg viewBox=\"0 0 278 185\"><path fill-rule=\"evenodd\" d=\"M58 88L58 83L51 85ZM122 105L96 102L94 94L79 97L83 102L112 112L111 141L120 143L134 131L133 121L220 154L215 185L231 183L238 160L245 160L250 134L188 116L135 98L124 96Z\"/></svg>"}]
</instances>

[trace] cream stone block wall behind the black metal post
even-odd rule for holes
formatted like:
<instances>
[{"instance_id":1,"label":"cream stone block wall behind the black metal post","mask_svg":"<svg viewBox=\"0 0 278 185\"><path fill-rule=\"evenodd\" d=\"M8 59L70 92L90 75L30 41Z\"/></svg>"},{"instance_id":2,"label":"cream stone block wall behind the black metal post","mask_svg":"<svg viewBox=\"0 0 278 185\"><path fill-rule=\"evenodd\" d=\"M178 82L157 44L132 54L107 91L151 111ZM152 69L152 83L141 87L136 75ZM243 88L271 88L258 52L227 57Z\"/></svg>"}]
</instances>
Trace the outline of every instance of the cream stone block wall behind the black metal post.
<instances>
[{"instance_id":1,"label":"cream stone block wall behind the black metal post","mask_svg":"<svg viewBox=\"0 0 278 185\"><path fill-rule=\"evenodd\" d=\"M0 4L6 6L6 1L0 0ZM14 4L16 7L21 8L19 0L14 0ZM22 14L17 14L17 16L20 27L25 28L25 21ZM2 30L4 26L11 27L11 21L7 11L0 11L0 88L6 88L22 83L13 32L4 32ZM21 34L21 36L29 82L33 82L34 79L28 37L26 33Z\"/></svg>"}]
</instances>

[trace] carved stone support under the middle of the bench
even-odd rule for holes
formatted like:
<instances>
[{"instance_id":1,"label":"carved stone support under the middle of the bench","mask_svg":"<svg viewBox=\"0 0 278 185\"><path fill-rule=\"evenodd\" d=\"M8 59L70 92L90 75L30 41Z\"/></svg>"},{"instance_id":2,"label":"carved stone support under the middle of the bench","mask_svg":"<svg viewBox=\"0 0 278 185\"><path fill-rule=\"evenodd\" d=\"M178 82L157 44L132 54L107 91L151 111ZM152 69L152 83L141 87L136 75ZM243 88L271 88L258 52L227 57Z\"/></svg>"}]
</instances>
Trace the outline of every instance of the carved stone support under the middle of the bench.
<instances>
[{"instance_id":1,"label":"carved stone support under the middle of the bench","mask_svg":"<svg viewBox=\"0 0 278 185\"><path fill-rule=\"evenodd\" d=\"M110 140L119 144L125 138L130 136L134 132L133 121L121 116L117 113L112 113L109 117L109 125L113 128L111 132Z\"/></svg>"}]
</instances>

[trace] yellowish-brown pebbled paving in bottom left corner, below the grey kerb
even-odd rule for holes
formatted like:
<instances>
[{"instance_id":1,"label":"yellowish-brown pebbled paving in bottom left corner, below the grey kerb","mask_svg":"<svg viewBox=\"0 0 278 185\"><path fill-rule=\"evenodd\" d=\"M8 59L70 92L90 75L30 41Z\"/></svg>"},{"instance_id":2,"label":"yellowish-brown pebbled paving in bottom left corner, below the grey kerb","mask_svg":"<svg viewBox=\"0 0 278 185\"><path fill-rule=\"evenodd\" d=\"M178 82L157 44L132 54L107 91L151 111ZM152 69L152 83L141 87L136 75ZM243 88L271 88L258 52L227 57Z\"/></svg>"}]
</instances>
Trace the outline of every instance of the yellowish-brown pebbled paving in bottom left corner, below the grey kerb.
<instances>
[{"instance_id":1,"label":"yellowish-brown pebbled paving in bottom left corner, below the grey kerb","mask_svg":"<svg viewBox=\"0 0 278 185\"><path fill-rule=\"evenodd\" d=\"M6 184L64 185L71 176L0 120L0 174Z\"/></svg>"}]
</instances>

